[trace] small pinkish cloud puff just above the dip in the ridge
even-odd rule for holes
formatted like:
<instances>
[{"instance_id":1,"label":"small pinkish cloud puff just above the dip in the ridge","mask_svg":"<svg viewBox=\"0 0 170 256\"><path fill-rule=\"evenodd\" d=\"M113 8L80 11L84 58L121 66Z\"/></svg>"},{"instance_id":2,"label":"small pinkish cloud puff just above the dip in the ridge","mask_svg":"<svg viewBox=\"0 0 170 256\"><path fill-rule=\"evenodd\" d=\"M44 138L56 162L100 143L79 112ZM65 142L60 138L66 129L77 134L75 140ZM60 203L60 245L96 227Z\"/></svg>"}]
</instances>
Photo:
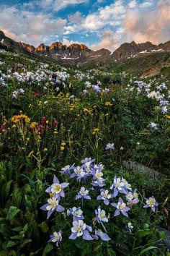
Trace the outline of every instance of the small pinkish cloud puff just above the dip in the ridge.
<instances>
[{"instance_id":1,"label":"small pinkish cloud puff just above the dip in the ridge","mask_svg":"<svg viewBox=\"0 0 170 256\"><path fill-rule=\"evenodd\" d=\"M112 30L105 30L99 43L89 46L94 51L97 51L101 48L109 49L109 51L114 51L119 46L117 37Z\"/></svg>"}]
</instances>

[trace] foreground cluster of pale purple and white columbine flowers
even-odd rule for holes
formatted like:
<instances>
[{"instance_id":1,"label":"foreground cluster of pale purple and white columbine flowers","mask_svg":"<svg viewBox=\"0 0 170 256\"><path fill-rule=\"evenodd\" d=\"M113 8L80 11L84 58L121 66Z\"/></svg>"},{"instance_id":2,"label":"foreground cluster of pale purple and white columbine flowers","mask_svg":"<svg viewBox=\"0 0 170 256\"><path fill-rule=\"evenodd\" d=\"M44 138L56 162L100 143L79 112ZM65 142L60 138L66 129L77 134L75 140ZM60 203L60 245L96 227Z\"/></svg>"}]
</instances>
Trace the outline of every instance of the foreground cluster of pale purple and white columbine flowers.
<instances>
[{"instance_id":1,"label":"foreground cluster of pale purple and white columbine flowers","mask_svg":"<svg viewBox=\"0 0 170 256\"><path fill-rule=\"evenodd\" d=\"M84 216L84 211L81 207L74 205L72 208L68 208L66 210L66 215L64 216L72 218L72 227L69 239L75 240L82 237L82 239L87 241L98 239L109 241L111 239L107 234L107 223L109 222L109 219L116 218L117 216L120 216L120 214L128 218L133 205L139 202L137 189L133 190L131 185L125 179L117 176L113 178L113 183L109 189L99 189L99 187L106 185L106 179L103 178L103 171L104 166L102 163L95 164L94 159L92 158L85 158L82 160L81 166L75 166L73 164L61 169L61 175L65 174L67 179L76 179L77 182L83 183L84 186L85 184L88 184L88 189L84 186L80 187L79 192L75 195L75 202L83 202L83 200L86 200L87 206L88 200L93 199L97 200L97 202L100 201L103 203L103 206L99 205L94 209L94 213L91 213L92 215L95 214L95 217L91 218L93 223L95 223L95 228L97 225L101 225L103 231L101 227L97 227L97 229L94 229L93 231L92 226L86 224L86 216ZM60 205L60 202L62 198L65 197L63 190L66 187L68 187L67 182L60 183L58 178L54 176L53 184L45 190L45 192L50 194L50 198L40 209L48 211L48 218L50 218L55 211L62 213L65 210L65 208ZM118 199L116 198L117 196L119 196ZM108 212L108 205L111 205L112 209L115 208L114 214ZM155 212L157 207L158 203L154 197L146 198L146 205L144 205L143 208L151 208L151 210ZM125 229L131 233L133 231L133 224L128 221ZM50 236L49 242L55 242L58 246L61 240L61 231L55 231Z\"/></svg>"}]
</instances>

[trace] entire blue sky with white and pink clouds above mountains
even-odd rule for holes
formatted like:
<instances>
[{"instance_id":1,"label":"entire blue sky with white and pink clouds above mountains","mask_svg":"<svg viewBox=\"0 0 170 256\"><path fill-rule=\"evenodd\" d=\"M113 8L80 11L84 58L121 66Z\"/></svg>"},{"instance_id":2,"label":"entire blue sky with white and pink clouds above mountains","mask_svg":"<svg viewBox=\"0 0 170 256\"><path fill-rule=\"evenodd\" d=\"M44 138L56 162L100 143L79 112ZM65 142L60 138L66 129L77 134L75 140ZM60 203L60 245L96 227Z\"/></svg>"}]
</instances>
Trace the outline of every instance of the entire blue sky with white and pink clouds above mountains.
<instances>
[{"instance_id":1,"label":"entire blue sky with white and pink clouds above mountains","mask_svg":"<svg viewBox=\"0 0 170 256\"><path fill-rule=\"evenodd\" d=\"M84 43L114 51L121 43L170 40L170 0L0 0L0 30L50 45Z\"/></svg>"}]
</instances>

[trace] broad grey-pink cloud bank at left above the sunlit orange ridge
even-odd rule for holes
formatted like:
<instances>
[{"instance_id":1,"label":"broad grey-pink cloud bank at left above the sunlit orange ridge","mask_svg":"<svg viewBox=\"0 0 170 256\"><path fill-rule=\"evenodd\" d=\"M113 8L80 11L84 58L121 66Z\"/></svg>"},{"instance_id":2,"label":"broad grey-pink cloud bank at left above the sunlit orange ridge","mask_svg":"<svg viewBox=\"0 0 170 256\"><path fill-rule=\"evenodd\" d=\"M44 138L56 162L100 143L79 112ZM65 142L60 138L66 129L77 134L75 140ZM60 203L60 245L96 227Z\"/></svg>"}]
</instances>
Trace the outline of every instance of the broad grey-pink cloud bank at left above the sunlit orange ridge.
<instances>
[{"instance_id":1,"label":"broad grey-pink cloud bank at left above the sunlit orange ridge","mask_svg":"<svg viewBox=\"0 0 170 256\"><path fill-rule=\"evenodd\" d=\"M0 29L14 40L35 44L48 43L55 34L62 33L66 20L53 19L47 14L35 14L17 9L4 7L0 10Z\"/></svg>"}]
</instances>

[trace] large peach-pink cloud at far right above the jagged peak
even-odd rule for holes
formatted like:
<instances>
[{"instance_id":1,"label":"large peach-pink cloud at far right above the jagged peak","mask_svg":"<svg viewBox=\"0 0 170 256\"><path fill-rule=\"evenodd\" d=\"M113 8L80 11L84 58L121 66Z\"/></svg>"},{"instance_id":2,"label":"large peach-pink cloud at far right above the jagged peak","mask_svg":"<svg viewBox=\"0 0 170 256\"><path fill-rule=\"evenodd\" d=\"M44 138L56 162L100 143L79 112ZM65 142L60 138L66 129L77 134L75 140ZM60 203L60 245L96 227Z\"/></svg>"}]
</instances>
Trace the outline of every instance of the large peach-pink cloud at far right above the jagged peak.
<instances>
[{"instance_id":1,"label":"large peach-pink cloud at far right above the jagged peak","mask_svg":"<svg viewBox=\"0 0 170 256\"><path fill-rule=\"evenodd\" d=\"M151 41L161 43L169 40L170 35L170 1L160 0L155 9L128 10L125 20L122 22L124 28L123 39L135 40L137 43Z\"/></svg>"}]
</instances>

